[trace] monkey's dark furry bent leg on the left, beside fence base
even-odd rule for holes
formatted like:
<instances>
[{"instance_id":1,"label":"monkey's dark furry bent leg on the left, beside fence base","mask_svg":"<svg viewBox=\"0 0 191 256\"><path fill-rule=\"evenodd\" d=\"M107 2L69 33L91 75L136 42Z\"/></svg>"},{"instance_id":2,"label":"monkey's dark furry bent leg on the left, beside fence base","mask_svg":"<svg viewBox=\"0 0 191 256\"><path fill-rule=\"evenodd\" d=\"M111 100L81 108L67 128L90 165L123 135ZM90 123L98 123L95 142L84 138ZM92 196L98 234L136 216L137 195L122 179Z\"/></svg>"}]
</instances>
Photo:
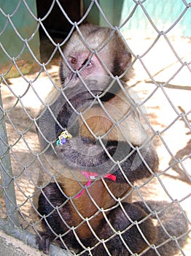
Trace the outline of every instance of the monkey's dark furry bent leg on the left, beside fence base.
<instances>
[{"instance_id":1,"label":"monkey's dark furry bent leg on the left, beside fence base","mask_svg":"<svg viewBox=\"0 0 191 256\"><path fill-rule=\"evenodd\" d=\"M38 239L39 249L48 254L50 243L59 235L69 231L72 218L67 198L55 183L49 184L39 196L39 214L46 229L42 238ZM63 236L64 245L79 249L79 244L72 231ZM63 243L62 246L64 247Z\"/></svg>"}]
</instances>

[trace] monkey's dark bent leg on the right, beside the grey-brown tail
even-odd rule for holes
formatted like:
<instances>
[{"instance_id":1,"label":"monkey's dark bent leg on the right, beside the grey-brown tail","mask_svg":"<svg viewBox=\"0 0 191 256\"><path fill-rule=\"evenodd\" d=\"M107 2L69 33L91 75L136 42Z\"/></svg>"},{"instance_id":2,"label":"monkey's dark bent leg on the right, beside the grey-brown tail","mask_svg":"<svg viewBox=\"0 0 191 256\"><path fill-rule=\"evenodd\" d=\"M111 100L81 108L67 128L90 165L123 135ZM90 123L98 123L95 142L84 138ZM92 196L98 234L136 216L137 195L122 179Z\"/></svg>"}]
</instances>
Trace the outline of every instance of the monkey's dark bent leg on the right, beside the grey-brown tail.
<instances>
[{"instance_id":1,"label":"monkey's dark bent leg on the right, beside the grey-brown tail","mask_svg":"<svg viewBox=\"0 0 191 256\"><path fill-rule=\"evenodd\" d=\"M142 219L143 222L141 222ZM138 222L138 224L133 222ZM157 231L152 219L133 203L122 203L122 208L118 206L112 210L107 215L104 225L102 223L95 233L102 240L101 244L92 250L94 256L107 256L108 252L112 256L139 254L149 246L144 239L149 241L149 244L153 244L157 238ZM91 241L91 246L98 243L96 238L92 238Z\"/></svg>"}]
</instances>

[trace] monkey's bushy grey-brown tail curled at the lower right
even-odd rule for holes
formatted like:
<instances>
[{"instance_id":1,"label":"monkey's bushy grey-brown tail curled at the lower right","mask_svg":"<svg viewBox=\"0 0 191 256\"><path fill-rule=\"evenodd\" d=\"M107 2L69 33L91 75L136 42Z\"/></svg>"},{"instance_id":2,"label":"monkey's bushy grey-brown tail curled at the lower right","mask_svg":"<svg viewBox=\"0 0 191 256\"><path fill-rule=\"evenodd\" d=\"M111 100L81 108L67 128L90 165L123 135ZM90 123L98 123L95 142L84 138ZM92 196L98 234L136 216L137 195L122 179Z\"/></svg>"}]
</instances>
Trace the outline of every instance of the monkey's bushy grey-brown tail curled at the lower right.
<instances>
[{"instance_id":1,"label":"monkey's bushy grey-brown tail curled at the lower right","mask_svg":"<svg viewBox=\"0 0 191 256\"><path fill-rule=\"evenodd\" d=\"M185 213L176 203L168 203L166 201L146 201L152 211L160 212L158 215L160 222L157 221L158 239L156 246L159 245L157 252L163 256L176 255L180 252L179 246L182 247L187 241L188 223ZM140 206L144 211L149 213L148 208L143 202L135 202L136 206ZM165 209L164 211L162 211ZM168 235L167 235L168 234ZM176 238L176 239L174 239ZM160 246L160 244L163 244ZM179 245L178 245L179 244ZM149 250L145 256L157 255L153 250Z\"/></svg>"}]
</instances>

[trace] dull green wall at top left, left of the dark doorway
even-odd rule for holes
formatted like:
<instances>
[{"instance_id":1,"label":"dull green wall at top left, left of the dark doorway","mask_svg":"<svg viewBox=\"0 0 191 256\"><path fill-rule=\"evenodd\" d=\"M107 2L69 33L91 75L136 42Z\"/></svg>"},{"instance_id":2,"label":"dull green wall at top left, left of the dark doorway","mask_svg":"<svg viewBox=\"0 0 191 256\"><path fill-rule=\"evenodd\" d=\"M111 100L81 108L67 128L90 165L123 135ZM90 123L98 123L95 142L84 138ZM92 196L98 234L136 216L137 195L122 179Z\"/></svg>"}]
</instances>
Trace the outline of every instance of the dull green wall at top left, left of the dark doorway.
<instances>
[{"instance_id":1,"label":"dull green wall at top left, left of the dark doorway","mask_svg":"<svg viewBox=\"0 0 191 256\"><path fill-rule=\"evenodd\" d=\"M36 15L36 0L26 2L31 12ZM29 38L28 45L39 59L39 32L34 34L36 26L36 20L23 4L23 1L0 0L0 69L9 66L12 63L12 59L10 59L12 57L18 61L34 61L28 48L25 48L25 40ZM7 54L4 53L3 48Z\"/></svg>"}]
</instances>

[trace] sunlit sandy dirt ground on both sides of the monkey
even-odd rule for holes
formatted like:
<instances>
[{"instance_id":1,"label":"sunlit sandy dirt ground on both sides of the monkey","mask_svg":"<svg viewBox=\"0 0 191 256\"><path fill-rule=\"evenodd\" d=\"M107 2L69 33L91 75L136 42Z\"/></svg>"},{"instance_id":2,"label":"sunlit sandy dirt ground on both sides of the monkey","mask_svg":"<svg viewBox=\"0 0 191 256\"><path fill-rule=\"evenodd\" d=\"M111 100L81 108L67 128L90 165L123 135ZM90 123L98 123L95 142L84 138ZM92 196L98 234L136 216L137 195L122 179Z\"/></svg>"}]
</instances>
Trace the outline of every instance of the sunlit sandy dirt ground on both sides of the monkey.
<instances>
[{"instance_id":1,"label":"sunlit sandy dirt ground on both sides of the monkey","mask_svg":"<svg viewBox=\"0 0 191 256\"><path fill-rule=\"evenodd\" d=\"M160 157L160 178L152 179L147 184L147 189L143 187L140 192L145 200L178 200L191 220L190 40L171 40L174 52L165 39L160 39L144 55L152 42L151 39L139 43L128 40L133 53L141 56L141 61L138 59L134 64L136 75L128 84L130 94L136 102L144 102L141 110L149 118L153 130L158 131L155 147ZM51 48L46 41L43 43L42 60L46 62ZM39 72L34 72L25 75L25 79L21 76L9 78L1 85L4 110L7 111L7 135L9 144L12 145L11 160L16 177L17 205L20 206L23 226L32 232L40 229L35 211L39 187L50 182L54 173L50 162L39 157L41 150L34 118L42 105L41 99L45 99L52 83L59 84L58 64L58 56L55 56L47 67L49 76L46 72L40 75ZM161 87L157 87L149 75ZM149 133L152 133L151 129ZM179 162L175 163L175 158L180 159ZM4 206L2 195L0 196L1 206ZM135 200L140 200L138 193L134 197ZM5 217L2 211L1 216ZM183 251L184 255L191 255L190 238Z\"/></svg>"}]
</instances>

